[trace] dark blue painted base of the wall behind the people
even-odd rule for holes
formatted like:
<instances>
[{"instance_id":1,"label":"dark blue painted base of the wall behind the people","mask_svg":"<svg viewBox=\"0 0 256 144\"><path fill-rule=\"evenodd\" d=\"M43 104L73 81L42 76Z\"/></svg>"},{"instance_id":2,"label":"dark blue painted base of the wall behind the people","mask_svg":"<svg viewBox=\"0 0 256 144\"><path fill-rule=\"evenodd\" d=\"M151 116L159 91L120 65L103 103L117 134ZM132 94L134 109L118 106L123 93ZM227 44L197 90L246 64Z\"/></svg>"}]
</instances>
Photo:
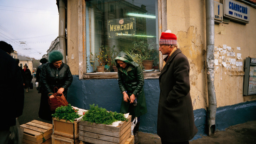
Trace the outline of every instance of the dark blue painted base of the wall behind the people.
<instances>
[{"instance_id":1,"label":"dark blue painted base of the wall behind the people","mask_svg":"<svg viewBox=\"0 0 256 144\"><path fill-rule=\"evenodd\" d=\"M158 79L145 79L144 91L147 104L147 113L141 116L140 131L157 133L157 110L159 100ZM73 82L68 90L68 102L72 106L89 110L91 104L97 104L108 111L120 112L122 94L117 79L90 79L79 80L77 75L73 76ZM216 130L256 120L256 101L239 103L231 106L217 108ZM207 135L206 110L194 110L195 124L200 135Z\"/></svg>"}]
</instances>

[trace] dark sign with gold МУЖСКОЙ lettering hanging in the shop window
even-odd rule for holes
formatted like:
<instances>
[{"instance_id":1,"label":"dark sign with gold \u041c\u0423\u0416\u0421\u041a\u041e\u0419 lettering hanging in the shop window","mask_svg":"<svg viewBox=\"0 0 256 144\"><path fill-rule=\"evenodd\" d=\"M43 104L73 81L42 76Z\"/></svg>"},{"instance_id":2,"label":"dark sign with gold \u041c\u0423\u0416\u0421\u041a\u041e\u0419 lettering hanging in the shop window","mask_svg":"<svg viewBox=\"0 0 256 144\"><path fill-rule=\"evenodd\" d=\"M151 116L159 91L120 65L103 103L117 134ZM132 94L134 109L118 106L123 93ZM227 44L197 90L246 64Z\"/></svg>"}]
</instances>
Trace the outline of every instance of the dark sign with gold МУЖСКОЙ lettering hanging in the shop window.
<instances>
[{"instance_id":1,"label":"dark sign with gold \u041c\u0423\u0416\u0421\u041a\u041e\u0419 lettering hanging in the shop window","mask_svg":"<svg viewBox=\"0 0 256 144\"><path fill-rule=\"evenodd\" d=\"M134 17L108 20L108 39L135 37Z\"/></svg>"}]
</instances>

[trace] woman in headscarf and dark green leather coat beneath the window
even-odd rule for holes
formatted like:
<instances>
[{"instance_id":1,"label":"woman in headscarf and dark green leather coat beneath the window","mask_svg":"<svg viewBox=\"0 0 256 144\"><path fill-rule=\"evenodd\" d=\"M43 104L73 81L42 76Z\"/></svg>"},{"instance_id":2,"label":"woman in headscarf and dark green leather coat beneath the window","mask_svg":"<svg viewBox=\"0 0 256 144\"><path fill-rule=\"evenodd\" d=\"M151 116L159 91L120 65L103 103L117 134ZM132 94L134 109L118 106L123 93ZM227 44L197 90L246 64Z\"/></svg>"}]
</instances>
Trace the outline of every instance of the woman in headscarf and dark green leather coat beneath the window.
<instances>
[{"instance_id":1,"label":"woman in headscarf and dark green leather coat beneath the window","mask_svg":"<svg viewBox=\"0 0 256 144\"><path fill-rule=\"evenodd\" d=\"M118 69L118 84L123 94L121 103L121 113L130 113L132 119L137 117L137 124L134 127L133 134L135 143L138 142L138 131L140 125L140 116L147 113L146 99L144 94L144 76L139 64L135 63L128 54L120 52L115 58Z\"/></svg>"}]
</instances>

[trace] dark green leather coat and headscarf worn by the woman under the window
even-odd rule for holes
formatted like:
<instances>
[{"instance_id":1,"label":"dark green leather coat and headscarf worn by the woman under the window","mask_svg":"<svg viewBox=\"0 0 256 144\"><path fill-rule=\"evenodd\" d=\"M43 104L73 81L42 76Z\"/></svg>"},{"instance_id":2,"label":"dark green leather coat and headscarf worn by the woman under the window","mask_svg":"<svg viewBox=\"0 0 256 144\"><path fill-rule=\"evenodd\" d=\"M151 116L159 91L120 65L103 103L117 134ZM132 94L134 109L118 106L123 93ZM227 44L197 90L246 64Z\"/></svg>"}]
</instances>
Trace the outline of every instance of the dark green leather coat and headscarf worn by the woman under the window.
<instances>
[{"instance_id":1,"label":"dark green leather coat and headscarf worn by the woman under the window","mask_svg":"<svg viewBox=\"0 0 256 144\"><path fill-rule=\"evenodd\" d=\"M117 57L122 57L127 59L129 62L127 66L131 66L132 70L128 71L127 74L123 72L123 68L117 64L118 68L118 84L121 90L127 91L128 96L134 94L137 97L137 106L133 106L133 104L124 102L122 98L121 103L121 113L130 113L133 117L139 117L142 114L147 112L146 107L146 99L144 94L144 76L143 71L139 64L135 63L131 57L129 57L126 53L120 52ZM123 96L123 94L122 94Z\"/></svg>"}]
</instances>

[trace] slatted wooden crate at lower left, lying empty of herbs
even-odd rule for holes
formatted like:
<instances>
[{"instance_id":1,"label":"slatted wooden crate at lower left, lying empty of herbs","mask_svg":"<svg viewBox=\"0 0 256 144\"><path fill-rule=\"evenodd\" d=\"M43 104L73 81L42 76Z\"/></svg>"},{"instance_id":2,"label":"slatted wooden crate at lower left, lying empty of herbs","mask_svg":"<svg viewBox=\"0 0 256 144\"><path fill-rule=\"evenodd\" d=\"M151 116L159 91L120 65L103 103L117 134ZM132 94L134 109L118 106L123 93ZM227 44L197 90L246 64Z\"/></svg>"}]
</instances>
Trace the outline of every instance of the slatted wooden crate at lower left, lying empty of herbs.
<instances>
[{"instance_id":1,"label":"slatted wooden crate at lower left, lying empty of herbs","mask_svg":"<svg viewBox=\"0 0 256 144\"><path fill-rule=\"evenodd\" d=\"M43 144L51 143L52 124L32 120L26 124L20 125L24 128L22 143L25 144L41 144L43 139L46 141Z\"/></svg>"}]
</instances>

